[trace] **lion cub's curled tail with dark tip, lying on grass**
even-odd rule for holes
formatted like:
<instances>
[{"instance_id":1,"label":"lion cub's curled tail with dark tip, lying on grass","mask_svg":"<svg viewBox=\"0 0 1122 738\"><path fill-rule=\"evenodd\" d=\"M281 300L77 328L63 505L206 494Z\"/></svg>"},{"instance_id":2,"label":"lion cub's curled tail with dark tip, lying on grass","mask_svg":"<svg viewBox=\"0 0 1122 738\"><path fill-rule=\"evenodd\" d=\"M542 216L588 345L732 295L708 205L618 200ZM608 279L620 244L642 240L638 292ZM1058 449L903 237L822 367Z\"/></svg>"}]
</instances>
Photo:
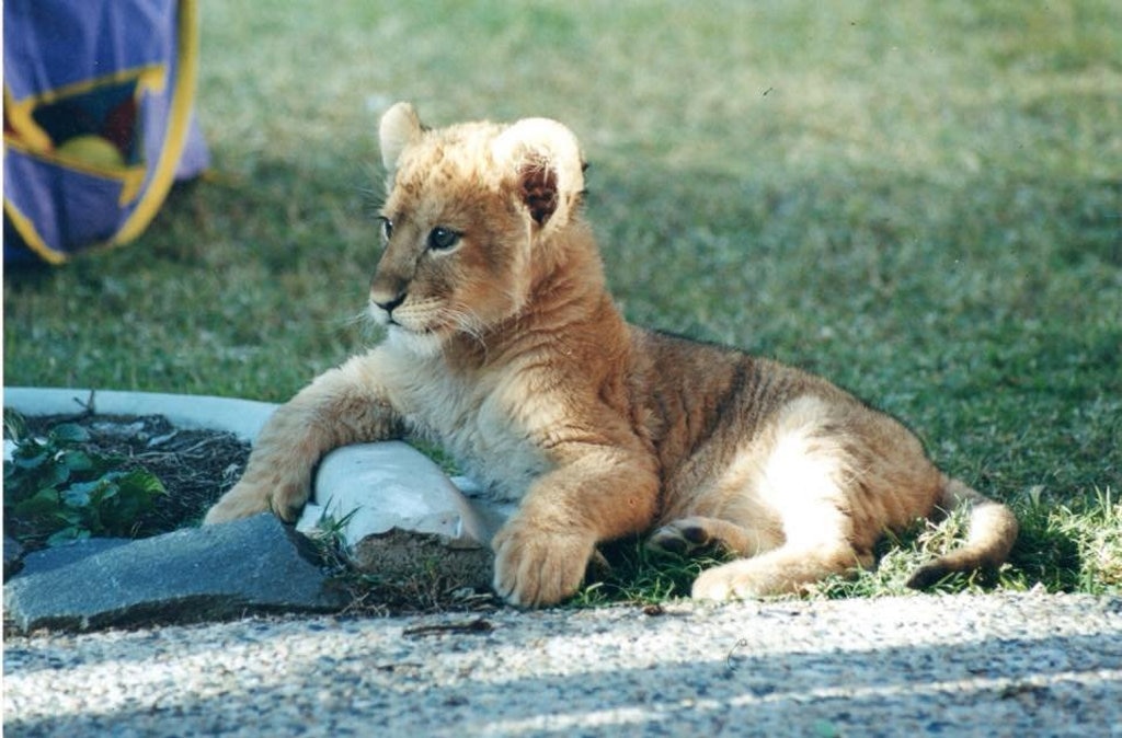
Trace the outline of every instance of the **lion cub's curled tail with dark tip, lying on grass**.
<instances>
[{"instance_id":1,"label":"lion cub's curled tail with dark tip, lying on grass","mask_svg":"<svg viewBox=\"0 0 1122 738\"><path fill-rule=\"evenodd\" d=\"M966 543L920 566L908 580L908 587L923 589L953 572L996 569L1005 562L1020 529L1012 510L957 479L945 478L938 507L950 511L964 502L969 506Z\"/></svg>"}]
</instances>

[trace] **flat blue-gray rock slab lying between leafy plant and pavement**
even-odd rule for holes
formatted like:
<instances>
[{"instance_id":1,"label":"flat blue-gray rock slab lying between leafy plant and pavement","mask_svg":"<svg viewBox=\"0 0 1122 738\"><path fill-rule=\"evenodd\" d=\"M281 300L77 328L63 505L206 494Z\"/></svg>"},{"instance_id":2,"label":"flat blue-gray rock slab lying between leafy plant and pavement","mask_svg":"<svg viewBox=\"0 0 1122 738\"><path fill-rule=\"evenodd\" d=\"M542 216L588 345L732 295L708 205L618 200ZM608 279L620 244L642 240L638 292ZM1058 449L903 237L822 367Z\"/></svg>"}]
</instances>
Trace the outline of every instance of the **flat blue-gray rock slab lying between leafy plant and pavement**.
<instances>
[{"instance_id":1,"label":"flat blue-gray rock slab lying between leafy plant and pavement","mask_svg":"<svg viewBox=\"0 0 1122 738\"><path fill-rule=\"evenodd\" d=\"M176 531L16 576L4 584L3 600L6 618L24 631L330 611L346 601L306 538L269 514Z\"/></svg>"}]
</instances>

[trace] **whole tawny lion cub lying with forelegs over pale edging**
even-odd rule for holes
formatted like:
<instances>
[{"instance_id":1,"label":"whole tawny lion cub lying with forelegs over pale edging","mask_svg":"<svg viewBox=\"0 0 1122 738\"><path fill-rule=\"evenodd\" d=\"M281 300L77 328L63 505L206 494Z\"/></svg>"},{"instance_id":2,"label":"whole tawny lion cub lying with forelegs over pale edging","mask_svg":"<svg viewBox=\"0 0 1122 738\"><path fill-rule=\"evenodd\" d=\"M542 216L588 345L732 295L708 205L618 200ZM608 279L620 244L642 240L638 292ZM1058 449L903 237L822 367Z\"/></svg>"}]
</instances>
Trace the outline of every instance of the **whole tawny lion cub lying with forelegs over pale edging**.
<instances>
[{"instance_id":1,"label":"whole tawny lion cub lying with forelegs over pale edging","mask_svg":"<svg viewBox=\"0 0 1122 738\"><path fill-rule=\"evenodd\" d=\"M693 584L714 600L871 566L885 531L962 502L968 541L910 583L1005 560L1009 509L942 474L893 418L797 369L625 323L564 126L431 130L398 103L379 136L389 195L370 312L386 339L277 409L208 523L292 519L324 453L412 434L518 501L491 541L514 605L563 600L597 543L640 532L738 556Z\"/></svg>"}]
</instances>

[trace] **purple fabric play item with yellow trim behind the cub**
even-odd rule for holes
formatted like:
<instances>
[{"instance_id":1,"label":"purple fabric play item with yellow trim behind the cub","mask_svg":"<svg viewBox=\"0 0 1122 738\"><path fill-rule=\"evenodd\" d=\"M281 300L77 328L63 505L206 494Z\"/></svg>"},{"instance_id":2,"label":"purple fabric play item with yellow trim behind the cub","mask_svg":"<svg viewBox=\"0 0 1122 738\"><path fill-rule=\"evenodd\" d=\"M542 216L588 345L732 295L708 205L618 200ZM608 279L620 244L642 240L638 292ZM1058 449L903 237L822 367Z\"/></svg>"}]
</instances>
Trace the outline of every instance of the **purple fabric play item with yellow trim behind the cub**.
<instances>
[{"instance_id":1,"label":"purple fabric play item with yellow trim behind the cub","mask_svg":"<svg viewBox=\"0 0 1122 738\"><path fill-rule=\"evenodd\" d=\"M194 0L3 2L4 264L126 243L200 174Z\"/></svg>"}]
</instances>

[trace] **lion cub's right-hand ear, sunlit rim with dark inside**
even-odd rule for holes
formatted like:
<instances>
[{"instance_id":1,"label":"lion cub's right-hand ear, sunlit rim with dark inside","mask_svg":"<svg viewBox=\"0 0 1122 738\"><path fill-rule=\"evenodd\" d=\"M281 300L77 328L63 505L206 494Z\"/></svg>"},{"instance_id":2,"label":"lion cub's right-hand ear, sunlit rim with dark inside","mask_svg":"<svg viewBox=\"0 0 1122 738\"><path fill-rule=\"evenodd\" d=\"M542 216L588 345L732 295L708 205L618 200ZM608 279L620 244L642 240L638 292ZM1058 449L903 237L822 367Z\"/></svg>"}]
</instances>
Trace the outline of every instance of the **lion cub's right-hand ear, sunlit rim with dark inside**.
<instances>
[{"instance_id":1,"label":"lion cub's right-hand ear, sunlit rim with dark inside","mask_svg":"<svg viewBox=\"0 0 1122 738\"><path fill-rule=\"evenodd\" d=\"M514 169L518 196L543 231L569 221L585 191L585 163L572 131L555 120L527 118L495 139L493 154Z\"/></svg>"}]
</instances>

